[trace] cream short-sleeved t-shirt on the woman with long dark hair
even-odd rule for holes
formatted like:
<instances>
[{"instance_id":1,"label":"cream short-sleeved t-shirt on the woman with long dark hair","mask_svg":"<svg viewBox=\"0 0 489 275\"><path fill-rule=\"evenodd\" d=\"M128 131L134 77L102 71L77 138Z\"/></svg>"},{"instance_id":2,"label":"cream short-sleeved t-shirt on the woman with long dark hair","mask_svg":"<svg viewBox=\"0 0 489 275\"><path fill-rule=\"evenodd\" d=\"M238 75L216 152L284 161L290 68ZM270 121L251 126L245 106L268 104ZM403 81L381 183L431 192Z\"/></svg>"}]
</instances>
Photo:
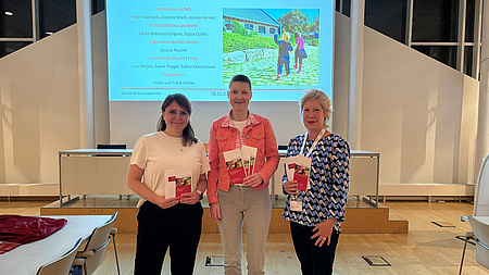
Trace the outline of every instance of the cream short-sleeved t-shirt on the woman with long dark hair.
<instances>
[{"instance_id":1,"label":"cream short-sleeved t-shirt on the woman with long dark hair","mask_svg":"<svg viewBox=\"0 0 489 275\"><path fill-rule=\"evenodd\" d=\"M190 167L192 170L192 190L197 188L200 175L211 170L202 142L183 147L181 138L171 137L164 132L148 134L139 138L134 147L130 164L136 164L145 170L142 184L153 192L159 186L159 191L163 190L164 192L165 170ZM141 198L138 208L145 201L146 199Z\"/></svg>"}]
</instances>

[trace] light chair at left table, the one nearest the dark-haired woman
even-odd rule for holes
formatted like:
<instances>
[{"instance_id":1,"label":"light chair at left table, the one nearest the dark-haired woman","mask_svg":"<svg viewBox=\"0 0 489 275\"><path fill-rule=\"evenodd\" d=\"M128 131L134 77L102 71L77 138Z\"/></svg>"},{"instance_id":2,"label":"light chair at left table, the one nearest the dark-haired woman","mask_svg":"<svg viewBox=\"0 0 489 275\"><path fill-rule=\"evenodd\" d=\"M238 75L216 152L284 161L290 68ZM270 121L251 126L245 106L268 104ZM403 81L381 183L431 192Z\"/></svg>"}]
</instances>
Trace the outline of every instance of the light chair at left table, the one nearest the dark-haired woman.
<instances>
[{"instance_id":1,"label":"light chair at left table, the one nearest the dark-haired woman","mask_svg":"<svg viewBox=\"0 0 489 275\"><path fill-rule=\"evenodd\" d=\"M112 224L116 216L117 212L104 225L95 228L85 249L76 254L73 265L79 270L80 275L92 274L102 264L110 242Z\"/></svg>"}]
</instances>

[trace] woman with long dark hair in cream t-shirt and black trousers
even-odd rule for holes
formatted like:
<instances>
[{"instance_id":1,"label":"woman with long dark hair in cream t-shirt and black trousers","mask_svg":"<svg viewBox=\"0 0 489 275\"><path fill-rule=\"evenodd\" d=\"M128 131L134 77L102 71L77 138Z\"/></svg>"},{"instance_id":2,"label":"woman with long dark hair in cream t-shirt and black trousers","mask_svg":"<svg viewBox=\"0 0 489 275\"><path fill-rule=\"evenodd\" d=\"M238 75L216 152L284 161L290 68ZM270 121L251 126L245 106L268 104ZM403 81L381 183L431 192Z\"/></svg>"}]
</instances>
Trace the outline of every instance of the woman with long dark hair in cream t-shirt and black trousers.
<instances>
[{"instance_id":1,"label":"woman with long dark hair in cream t-shirt and black trousers","mask_svg":"<svg viewBox=\"0 0 489 275\"><path fill-rule=\"evenodd\" d=\"M136 142L127 177L127 186L141 197L134 274L161 274L168 248L172 274L192 274L202 230L200 201L210 166L190 125L187 97L167 96L161 113L158 132ZM192 191L176 197L167 192L178 173L191 175Z\"/></svg>"}]
</instances>

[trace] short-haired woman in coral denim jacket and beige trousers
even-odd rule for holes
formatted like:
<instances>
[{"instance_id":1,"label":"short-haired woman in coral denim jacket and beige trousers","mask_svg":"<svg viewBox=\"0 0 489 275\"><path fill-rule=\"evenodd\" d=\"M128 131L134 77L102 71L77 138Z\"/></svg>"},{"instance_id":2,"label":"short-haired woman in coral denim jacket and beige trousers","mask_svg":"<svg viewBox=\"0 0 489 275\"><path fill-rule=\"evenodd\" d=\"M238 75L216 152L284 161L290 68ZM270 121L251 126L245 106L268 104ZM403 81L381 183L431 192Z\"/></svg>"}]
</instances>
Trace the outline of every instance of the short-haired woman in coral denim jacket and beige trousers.
<instances>
[{"instance_id":1,"label":"short-haired woman in coral denim jacket and beige trousers","mask_svg":"<svg viewBox=\"0 0 489 275\"><path fill-rule=\"evenodd\" d=\"M241 274L241 234L247 235L248 274L265 273L265 245L271 217L268 180L277 170L278 148L269 121L248 110L251 82L236 75L227 97L231 110L214 121L209 138L209 204L218 223L225 253L225 274ZM256 148L254 173L231 185L224 153L242 146Z\"/></svg>"}]
</instances>

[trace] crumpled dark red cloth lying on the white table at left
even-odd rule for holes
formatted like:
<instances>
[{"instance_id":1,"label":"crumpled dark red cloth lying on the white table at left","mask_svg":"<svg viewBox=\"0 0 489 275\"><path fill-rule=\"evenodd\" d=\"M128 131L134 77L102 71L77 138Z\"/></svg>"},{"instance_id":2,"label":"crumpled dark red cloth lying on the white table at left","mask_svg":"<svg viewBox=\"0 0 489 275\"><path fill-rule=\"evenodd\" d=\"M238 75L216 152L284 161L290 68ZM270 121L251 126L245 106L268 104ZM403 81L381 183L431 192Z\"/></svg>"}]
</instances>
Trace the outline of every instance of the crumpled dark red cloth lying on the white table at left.
<instances>
[{"instance_id":1,"label":"crumpled dark red cloth lying on the white table at left","mask_svg":"<svg viewBox=\"0 0 489 275\"><path fill-rule=\"evenodd\" d=\"M0 215L0 240L29 243L50 236L66 223L65 218Z\"/></svg>"}]
</instances>

